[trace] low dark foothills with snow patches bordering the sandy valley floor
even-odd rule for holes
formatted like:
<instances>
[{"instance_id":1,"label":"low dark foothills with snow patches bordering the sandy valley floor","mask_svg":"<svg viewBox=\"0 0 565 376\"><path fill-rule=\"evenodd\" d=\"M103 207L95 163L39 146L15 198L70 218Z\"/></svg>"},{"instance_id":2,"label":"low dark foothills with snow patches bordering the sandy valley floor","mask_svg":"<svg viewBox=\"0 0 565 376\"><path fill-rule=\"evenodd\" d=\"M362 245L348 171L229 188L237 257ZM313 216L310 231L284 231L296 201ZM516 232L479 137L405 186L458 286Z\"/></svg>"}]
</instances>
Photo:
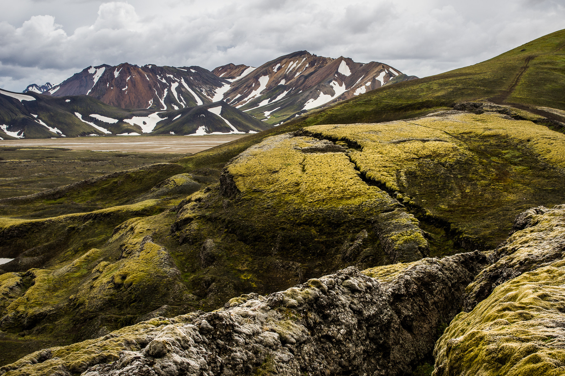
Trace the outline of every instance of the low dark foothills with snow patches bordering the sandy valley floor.
<instances>
[{"instance_id":1,"label":"low dark foothills with snow patches bordering the sandy valley floor","mask_svg":"<svg viewBox=\"0 0 565 376\"><path fill-rule=\"evenodd\" d=\"M0 139L6 140L257 133L268 128L225 102L172 111L128 110L90 96L49 97L0 90Z\"/></svg>"}]
</instances>

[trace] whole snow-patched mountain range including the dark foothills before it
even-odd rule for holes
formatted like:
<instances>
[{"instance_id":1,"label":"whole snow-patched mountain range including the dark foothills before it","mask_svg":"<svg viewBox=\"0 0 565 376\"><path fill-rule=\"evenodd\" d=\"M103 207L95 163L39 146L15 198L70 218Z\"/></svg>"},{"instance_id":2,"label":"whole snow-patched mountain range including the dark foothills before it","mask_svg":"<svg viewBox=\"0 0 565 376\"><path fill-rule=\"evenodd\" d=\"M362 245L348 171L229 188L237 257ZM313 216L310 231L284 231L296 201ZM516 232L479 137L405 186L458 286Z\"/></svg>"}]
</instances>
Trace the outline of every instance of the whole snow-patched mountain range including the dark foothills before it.
<instances>
[{"instance_id":1,"label":"whole snow-patched mountain range including the dark foothills before it","mask_svg":"<svg viewBox=\"0 0 565 376\"><path fill-rule=\"evenodd\" d=\"M60 84L29 85L24 93L38 102L2 90L0 101L7 107L0 112L0 137L253 133L416 78L383 63L355 63L307 51L258 68L227 64L212 72L196 66L103 64ZM33 96L36 93L63 97L64 102ZM102 103L78 97L83 95Z\"/></svg>"}]
</instances>

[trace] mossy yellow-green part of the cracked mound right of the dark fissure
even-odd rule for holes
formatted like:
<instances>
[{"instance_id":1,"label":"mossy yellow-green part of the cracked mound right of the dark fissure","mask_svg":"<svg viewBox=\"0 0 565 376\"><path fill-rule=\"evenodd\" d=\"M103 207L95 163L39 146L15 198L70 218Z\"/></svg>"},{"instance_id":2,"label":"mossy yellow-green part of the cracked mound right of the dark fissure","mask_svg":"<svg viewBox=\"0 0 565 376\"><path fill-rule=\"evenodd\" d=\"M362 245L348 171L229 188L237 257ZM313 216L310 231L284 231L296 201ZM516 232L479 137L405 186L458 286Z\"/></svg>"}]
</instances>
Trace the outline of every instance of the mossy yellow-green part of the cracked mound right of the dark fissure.
<instances>
[{"instance_id":1,"label":"mossy yellow-green part of the cracked mound right of the dark fissure","mask_svg":"<svg viewBox=\"0 0 565 376\"><path fill-rule=\"evenodd\" d=\"M360 174L465 248L492 249L521 211L565 202L565 136L529 121L447 112L303 132L354 147Z\"/></svg>"}]
</instances>

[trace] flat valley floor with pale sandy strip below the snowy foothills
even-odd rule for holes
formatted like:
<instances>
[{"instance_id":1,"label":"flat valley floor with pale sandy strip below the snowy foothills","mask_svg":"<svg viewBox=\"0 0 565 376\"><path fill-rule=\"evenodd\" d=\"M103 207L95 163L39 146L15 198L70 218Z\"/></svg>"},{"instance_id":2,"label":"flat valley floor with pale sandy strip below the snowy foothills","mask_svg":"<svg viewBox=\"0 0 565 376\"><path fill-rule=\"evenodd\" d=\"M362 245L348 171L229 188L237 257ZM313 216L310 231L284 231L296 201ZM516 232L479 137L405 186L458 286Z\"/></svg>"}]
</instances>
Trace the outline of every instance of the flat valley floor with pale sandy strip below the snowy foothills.
<instances>
[{"instance_id":1,"label":"flat valley floor with pale sandy strip below the snowy foothills","mask_svg":"<svg viewBox=\"0 0 565 376\"><path fill-rule=\"evenodd\" d=\"M31 195L94 176L173 162L245 135L0 140L0 198Z\"/></svg>"}]
</instances>

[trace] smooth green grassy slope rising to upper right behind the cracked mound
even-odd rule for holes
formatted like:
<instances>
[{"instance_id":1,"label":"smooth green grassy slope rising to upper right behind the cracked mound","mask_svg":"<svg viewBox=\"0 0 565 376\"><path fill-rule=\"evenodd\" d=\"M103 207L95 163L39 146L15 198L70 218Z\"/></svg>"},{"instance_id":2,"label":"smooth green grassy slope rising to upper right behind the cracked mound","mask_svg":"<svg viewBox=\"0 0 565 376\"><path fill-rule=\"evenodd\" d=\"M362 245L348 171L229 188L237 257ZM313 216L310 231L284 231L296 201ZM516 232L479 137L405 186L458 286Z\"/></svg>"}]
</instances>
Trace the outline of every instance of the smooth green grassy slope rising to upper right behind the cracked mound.
<instances>
[{"instance_id":1,"label":"smooth green grassy slope rising to upper right behind the cracked mound","mask_svg":"<svg viewBox=\"0 0 565 376\"><path fill-rule=\"evenodd\" d=\"M525 49L525 51L521 51ZM533 58L532 58L533 57ZM526 61L527 60L527 61ZM279 127L183 158L188 166L222 166L264 138L318 124L379 123L446 110L457 102L490 100L565 110L565 30L516 47L484 62L441 75L372 90ZM564 118L558 120L565 121Z\"/></svg>"}]
</instances>

